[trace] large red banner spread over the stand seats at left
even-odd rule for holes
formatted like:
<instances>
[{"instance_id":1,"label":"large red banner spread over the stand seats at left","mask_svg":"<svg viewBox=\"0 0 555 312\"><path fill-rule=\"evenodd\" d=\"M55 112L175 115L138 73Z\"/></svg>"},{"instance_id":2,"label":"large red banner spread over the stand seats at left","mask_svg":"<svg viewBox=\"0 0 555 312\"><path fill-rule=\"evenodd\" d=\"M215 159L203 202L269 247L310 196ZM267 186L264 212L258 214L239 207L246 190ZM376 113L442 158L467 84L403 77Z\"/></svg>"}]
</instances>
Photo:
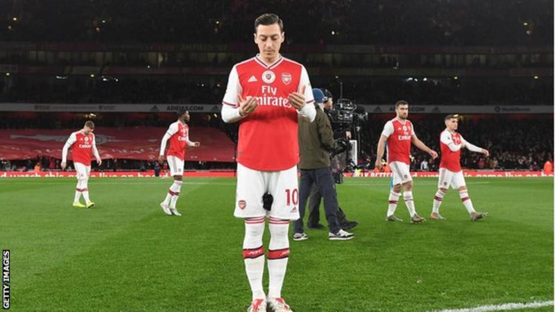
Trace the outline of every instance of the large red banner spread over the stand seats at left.
<instances>
[{"instance_id":1,"label":"large red banner spread over the stand seats at left","mask_svg":"<svg viewBox=\"0 0 555 312\"><path fill-rule=\"evenodd\" d=\"M102 159L155 160L160 139L167 128L132 127L94 130L96 147ZM0 130L0 160L36 159L37 156L62 158L65 141L76 130ZM225 133L208 127L192 127L189 139L200 147L187 148L185 160L234 162L234 144ZM71 152L68 155L71 159Z\"/></svg>"}]
</instances>

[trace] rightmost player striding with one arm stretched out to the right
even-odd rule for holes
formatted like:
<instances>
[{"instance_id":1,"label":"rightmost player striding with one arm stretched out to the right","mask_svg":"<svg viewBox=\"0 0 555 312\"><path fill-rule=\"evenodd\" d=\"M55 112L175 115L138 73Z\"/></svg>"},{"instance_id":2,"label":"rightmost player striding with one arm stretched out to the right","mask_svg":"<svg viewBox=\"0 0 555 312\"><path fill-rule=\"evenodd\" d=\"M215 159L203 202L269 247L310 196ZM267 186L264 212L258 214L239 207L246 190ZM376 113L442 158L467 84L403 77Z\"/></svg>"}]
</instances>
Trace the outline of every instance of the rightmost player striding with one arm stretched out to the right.
<instances>
[{"instance_id":1,"label":"rightmost player striding with one arm stretched out to the right","mask_svg":"<svg viewBox=\"0 0 555 312\"><path fill-rule=\"evenodd\" d=\"M448 115L445 117L445 125L447 128L441 132L440 145L441 145L441 162L439 163L439 180L438 191L434 196L434 206L432 207L432 214L429 218L433 220L445 220L439 214L439 207L443 201L443 196L447 193L449 187L459 190L459 196L463 202L464 207L470 214L470 220L476 221L487 213L476 212L472 206L472 200L468 196L468 189L466 189L466 182L464 180L463 171L461 169L461 148L468 148L468 150L475 153L482 153L488 157L490 153L484 148L479 148L470 144L463 139L463 136L456 132L459 128L459 115Z\"/></svg>"}]
</instances>

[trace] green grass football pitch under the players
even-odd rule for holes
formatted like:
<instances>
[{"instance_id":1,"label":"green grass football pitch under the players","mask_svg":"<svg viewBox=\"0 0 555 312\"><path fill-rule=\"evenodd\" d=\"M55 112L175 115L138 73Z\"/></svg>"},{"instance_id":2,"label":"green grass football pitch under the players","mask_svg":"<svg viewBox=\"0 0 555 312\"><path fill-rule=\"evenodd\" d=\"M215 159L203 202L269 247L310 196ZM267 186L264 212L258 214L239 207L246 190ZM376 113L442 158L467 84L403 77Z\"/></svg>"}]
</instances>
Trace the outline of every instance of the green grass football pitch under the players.
<instances>
[{"instance_id":1,"label":"green grass football pitch under the players","mask_svg":"<svg viewBox=\"0 0 555 312\"><path fill-rule=\"evenodd\" d=\"M421 216L431 212L436 183L415 180ZM388 178L345 179L337 189L348 218L360 223L355 239L328 241L327 231L307 229L308 241L291 240L284 299L298 312L553 300L553 179L467 183L488 218L472 223L451 190L441 207L447 221L411 225L384 221ZM158 205L168 179L92 178L96 207L88 210L71 207L75 184L0 180L0 247L11 250L13 311L246 311L233 178L186 178L181 218ZM409 219L402 200L397 215ZM266 229L266 246L268 239Z\"/></svg>"}]
</instances>

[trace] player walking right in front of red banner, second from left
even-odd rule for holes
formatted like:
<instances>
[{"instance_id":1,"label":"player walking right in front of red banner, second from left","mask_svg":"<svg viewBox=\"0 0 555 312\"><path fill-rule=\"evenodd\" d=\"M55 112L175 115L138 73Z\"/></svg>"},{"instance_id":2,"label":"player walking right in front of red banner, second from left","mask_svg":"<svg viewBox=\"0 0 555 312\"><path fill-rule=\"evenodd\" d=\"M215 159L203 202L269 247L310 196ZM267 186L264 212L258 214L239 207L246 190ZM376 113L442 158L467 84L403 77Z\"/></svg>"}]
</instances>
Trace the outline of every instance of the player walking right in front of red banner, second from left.
<instances>
[{"instance_id":1,"label":"player walking right in front of red banner, second from left","mask_svg":"<svg viewBox=\"0 0 555 312\"><path fill-rule=\"evenodd\" d=\"M168 216L181 216L176 208L176 204L181 191L181 184L183 183L185 146L200 146L200 142L189 141L189 125L187 125L187 122L191 119L189 112L186 110L179 110L177 114L178 121L169 125L166 134L162 137L162 142L160 143L160 157L158 157L160 165L164 164L164 153L169 141L167 158L169 171L173 177L173 184L169 187L164 201L160 202L160 207L162 207L162 210Z\"/></svg>"}]
</instances>

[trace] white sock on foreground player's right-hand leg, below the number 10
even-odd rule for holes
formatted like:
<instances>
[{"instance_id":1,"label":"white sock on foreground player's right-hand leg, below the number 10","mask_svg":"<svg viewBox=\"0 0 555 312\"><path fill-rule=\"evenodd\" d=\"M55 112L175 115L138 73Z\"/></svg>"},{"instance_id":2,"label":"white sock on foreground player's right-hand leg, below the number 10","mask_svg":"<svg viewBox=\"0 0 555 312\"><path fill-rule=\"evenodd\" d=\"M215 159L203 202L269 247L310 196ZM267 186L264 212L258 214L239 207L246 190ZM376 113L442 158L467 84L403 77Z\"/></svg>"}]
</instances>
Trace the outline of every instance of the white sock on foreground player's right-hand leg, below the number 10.
<instances>
[{"instance_id":1,"label":"white sock on foreground player's right-hand leg, below the number 10","mask_svg":"<svg viewBox=\"0 0 555 312\"><path fill-rule=\"evenodd\" d=\"M282 297L283 279L289 260L289 220L270 218L270 246L268 247L269 298Z\"/></svg>"}]
</instances>

